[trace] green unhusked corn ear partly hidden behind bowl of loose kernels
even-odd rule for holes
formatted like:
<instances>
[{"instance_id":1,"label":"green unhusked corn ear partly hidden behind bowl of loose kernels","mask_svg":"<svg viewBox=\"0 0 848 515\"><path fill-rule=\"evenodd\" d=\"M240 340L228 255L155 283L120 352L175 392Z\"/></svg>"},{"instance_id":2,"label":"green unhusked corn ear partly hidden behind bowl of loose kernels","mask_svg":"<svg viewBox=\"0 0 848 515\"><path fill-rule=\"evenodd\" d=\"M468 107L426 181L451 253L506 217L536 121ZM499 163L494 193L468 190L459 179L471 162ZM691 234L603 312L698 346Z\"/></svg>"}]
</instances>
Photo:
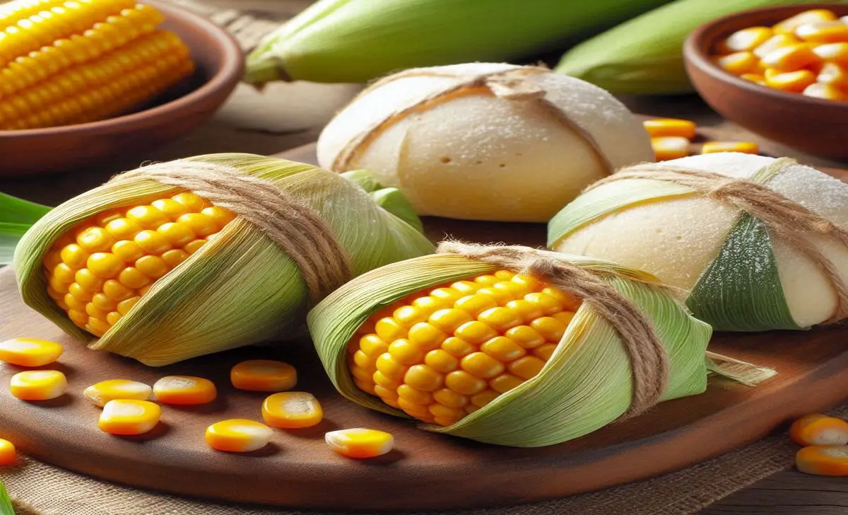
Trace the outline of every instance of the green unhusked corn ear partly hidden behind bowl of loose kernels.
<instances>
[{"instance_id":1,"label":"green unhusked corn ear partly hidden behind bowl of loose kernels","mask_svg":"<svg viewBox=\"0 0 848 515\"><path fill-rule=\"evenodd\" d=\"M815 0L677 0L572 48L555 71L613 93L691 92L683 41L698 26L750 8Z\"/></svg>"}]
</instances>

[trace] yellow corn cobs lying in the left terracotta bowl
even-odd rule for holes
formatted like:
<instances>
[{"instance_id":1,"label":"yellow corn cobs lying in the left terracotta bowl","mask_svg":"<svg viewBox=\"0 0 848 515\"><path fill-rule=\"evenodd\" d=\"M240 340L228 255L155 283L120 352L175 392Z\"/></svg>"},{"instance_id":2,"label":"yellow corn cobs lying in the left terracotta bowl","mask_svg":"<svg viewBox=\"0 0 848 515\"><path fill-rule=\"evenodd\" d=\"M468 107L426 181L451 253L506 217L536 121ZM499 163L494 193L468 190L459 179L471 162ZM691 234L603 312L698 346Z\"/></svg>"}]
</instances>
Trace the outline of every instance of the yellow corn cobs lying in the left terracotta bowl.
<instances>
[{"instance_id":1,"label":"yellow corn cobs lying in the left terracotta bowl","mask_svg":"<svg viewBox=\"0 0 848 515\"><path fill-rule=\"evenodd\" d=\"M120 115L192 74L163 16L132 0L42 0L0 12L0 130Z\"/></svg>"}]
</instances>

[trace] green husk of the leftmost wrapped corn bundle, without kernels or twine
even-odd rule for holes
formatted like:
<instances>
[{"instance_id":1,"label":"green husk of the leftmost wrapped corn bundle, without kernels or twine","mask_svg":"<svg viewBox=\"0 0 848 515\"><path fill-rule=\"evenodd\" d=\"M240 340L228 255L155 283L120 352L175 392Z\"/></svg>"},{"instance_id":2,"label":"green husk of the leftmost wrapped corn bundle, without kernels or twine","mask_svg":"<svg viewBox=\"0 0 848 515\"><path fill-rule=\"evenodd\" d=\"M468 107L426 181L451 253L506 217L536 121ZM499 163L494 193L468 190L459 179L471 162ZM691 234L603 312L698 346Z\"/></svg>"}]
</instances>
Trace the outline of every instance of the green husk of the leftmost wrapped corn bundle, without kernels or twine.
<instances>
[{"instance_id":1,"label":"green husk of the leftmost wrapped corn bundle, without kernels or twine","mask_svg":"<svg viewBox=\"0 0 848 515\"><path fill-rule=\"evenodd\" d=\"M416 221L416 216L393 188L252 154L211 154L190 160L237 168L309 205L347 251L354 275L432 252L432 244L419 231L420 222L407 222ZM149 180L107 183L47 213L15 250L14 267L26 304L66 333L91 339L47 295L44 255L53 241L89 216L178 191ZM259 229L237 217L156 280L137 305L90 347L161 366L267 339L287 339L304 326L308 297L295 262Z\"/></svg>"}]
</instances>

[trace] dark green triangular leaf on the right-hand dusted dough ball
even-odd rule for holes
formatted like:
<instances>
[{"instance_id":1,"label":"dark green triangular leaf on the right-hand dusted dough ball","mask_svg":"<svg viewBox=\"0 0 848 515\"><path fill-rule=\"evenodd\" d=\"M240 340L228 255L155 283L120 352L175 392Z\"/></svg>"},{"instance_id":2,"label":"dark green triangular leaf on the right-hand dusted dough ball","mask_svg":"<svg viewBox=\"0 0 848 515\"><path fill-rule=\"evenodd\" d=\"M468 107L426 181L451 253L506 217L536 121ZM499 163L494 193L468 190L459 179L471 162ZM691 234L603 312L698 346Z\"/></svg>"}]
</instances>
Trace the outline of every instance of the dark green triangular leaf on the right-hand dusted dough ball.
<instances>
[{"instance_id":1,"label":"dark green triangular leaf on the right-hand dusted dough ball","mask_svg":"<svg viewBox=\"0 0 848 515\"><path fill-rule=\"evenodd\" d=\"M748 214L736 222L686 305L717 331L801 328L789 313L766 226Z\"/></svg>"}]
</instances>

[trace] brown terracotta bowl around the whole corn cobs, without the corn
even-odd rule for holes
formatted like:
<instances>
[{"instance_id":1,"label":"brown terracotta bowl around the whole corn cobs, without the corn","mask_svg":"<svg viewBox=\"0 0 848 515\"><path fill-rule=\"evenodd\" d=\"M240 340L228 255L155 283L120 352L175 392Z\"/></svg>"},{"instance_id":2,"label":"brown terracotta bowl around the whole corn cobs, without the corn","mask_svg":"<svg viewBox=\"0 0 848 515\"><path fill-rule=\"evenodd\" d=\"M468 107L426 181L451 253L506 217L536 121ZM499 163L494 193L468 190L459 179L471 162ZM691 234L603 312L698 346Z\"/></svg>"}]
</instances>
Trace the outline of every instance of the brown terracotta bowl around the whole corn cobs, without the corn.
<instances>
[{"instance_id":1,"label":"brown terracotta bowl around the whole corn cobs, without the corn","mask_svg":"<svg viewBox=\"0 0 848 515\"><path fill-rule=\"evenodd\" d=\"M224 103L243 72L243 53L223 29L170 4L163 27L186 42L197 72L141 110L109 120L28 131L0 131L0 175L70 171L181 137Z\"/></svg>"}]
</instances>

